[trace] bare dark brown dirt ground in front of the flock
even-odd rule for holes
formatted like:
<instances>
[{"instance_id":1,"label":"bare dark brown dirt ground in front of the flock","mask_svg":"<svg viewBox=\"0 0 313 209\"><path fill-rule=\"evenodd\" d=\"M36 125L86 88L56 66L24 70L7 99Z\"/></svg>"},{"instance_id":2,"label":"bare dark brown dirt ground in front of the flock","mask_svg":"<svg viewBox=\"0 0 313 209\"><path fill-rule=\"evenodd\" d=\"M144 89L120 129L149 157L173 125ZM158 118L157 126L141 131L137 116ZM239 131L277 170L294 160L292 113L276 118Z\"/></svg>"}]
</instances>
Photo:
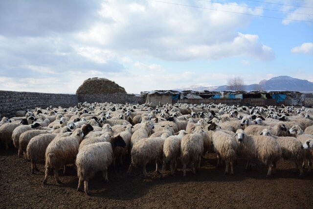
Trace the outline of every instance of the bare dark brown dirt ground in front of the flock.
<instances>
[{"instance_id":1,"label":"bare dark brown dirt ground in front of the flock","mask_svg":"<svg viewBox=\"0 0 313 209\"><path fill-rule=\"evenodd\" d=\"M18 158L16 149L0 148L0 208L313 208L313 175L299 177L292 162L281 160L277 174L269 178L264 166L244 171L241 159L234 176L225 176L224 166L215 164L215 155L208 154L196 175L189 171L182 177L179 169L175 177L167 171L164 178L150 165L151 177L145 179L141 168L126 175L128 159L109 169L109 183L101 173L90 180L87 196L76 191L72 166L65 175L60 170L61 186L52 174L43 185L43 163L38 165L41 172L32 175L30 162Z\"/></svg>"}]
</instances>

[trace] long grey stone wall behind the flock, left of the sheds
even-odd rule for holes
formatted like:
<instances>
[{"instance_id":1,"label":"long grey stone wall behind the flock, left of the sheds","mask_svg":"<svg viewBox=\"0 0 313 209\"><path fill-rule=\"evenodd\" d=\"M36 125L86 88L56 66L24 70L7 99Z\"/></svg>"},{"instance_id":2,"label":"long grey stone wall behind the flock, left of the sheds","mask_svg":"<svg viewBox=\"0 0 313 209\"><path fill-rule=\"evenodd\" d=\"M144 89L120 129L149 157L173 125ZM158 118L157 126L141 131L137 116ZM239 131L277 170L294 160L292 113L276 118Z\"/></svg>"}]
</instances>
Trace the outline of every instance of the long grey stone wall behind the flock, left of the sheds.
<instances>
[{"instance_id":1,"label":"long grey stone wall behind the flock, left of the sheds","mask_svg":"<svg viewBox=\"0 0 313 209\"><path fill-rule=\"evenodd\" d=\"M16 111L35 107L68 108L79 102L144 103L144 97L135 94L62 94L0 91L0 116L14 116Z\"/></svg>"}]
</instances>

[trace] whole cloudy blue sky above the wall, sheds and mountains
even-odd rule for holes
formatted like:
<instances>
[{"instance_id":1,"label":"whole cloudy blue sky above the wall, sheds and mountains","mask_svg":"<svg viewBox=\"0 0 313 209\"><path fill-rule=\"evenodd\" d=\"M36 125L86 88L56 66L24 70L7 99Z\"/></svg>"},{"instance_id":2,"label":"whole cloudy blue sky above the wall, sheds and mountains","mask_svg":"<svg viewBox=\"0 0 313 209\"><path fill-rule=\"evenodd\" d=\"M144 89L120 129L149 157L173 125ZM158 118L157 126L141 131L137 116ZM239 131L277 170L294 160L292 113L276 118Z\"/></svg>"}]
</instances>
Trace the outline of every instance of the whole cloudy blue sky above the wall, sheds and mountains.
<instances>
[{"instance_id":1,"label":"whole cloudy blue sky above the wall, sheds and mountains","mask_svg":"<svg viewBox=\"0 0 313 209\"><path fill-rule=\"evenodd\" d=\"M270 3L268 3L270 2ZM0 0L0 90L313 82L313 0Z\"/></svg>"}]
</instances>

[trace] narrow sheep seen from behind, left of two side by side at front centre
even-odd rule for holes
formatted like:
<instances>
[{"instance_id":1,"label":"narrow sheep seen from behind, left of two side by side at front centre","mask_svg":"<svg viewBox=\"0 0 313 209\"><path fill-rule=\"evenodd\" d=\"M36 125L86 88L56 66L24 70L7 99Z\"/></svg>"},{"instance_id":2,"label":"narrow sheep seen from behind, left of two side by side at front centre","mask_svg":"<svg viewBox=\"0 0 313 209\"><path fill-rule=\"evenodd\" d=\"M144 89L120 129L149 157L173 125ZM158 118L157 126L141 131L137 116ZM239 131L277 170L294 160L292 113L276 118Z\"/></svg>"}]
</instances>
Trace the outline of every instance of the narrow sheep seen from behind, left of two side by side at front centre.
<instances>
[{"instance_id":1,"label":"narrow sheep seen from behind, left of two side by side at front centre","mask_svg":"<svg viewBox=\"0 0 313 209\"><path fill-rule=\"evenodd\" d=\"M162 173L164 173L164 169L166 163L170 163L170 169L172 176L175 176L175 170L177 166L177 159L180 156L180 143L181 139L186 135L185 130L180 130L179 134L176 136L170 136L165 139L163 145L163 164L162 164ZM174 169L175 163L175 169Z\"/></svg>"}]
</instances>

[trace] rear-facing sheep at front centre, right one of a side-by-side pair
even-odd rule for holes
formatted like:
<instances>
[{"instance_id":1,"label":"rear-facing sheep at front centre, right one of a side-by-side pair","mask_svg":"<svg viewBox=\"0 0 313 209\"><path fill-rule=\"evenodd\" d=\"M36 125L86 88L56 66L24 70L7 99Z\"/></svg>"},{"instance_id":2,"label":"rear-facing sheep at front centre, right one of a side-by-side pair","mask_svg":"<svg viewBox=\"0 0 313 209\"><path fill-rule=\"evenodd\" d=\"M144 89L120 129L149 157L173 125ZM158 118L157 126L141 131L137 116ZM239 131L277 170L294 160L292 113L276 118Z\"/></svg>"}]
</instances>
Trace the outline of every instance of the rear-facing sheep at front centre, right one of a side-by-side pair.
<instances>
[{"instance_id":1,"label":"rear-facing sheep at front centre, right one of a side-by-side pair","mask_svg":"<svg viewBox=\"0 0 313 209\"><path fill-rule=\"evenodd\" d=\"M195 163L198 162L197 168L200 167L201 157L204 152L203 138L205 132L200 126L196 126L192 134L188 134L181 139L180 155L183 163L183 176L186 176L186 167L190 162L193 173L196 173Z\"/></svg>"}]
</instances>

